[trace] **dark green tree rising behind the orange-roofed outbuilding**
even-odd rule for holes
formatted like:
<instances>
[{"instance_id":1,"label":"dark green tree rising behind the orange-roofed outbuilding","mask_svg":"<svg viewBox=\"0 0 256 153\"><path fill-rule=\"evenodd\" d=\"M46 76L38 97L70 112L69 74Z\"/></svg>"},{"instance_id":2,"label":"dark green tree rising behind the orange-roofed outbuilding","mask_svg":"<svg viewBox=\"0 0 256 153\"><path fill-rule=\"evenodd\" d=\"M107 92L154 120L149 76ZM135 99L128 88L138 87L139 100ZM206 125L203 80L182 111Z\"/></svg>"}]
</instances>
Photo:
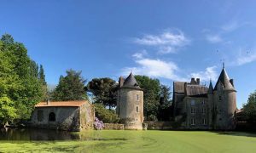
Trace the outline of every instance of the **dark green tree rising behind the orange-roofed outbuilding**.
<instances>
[{"instance_id":1,"label":"dark green tree rising behind the orange-roofed outbuilding","mask_svg":"<svg viewBox=\"0 0 256 153\"><path fill-rule=\"evenodd\" d=\"M68 70L67 76L60 77L59 84L52 93L52 99L58 101L87 99L85 94L84 80L81 71Z\"/></svg>"}]
</instances>

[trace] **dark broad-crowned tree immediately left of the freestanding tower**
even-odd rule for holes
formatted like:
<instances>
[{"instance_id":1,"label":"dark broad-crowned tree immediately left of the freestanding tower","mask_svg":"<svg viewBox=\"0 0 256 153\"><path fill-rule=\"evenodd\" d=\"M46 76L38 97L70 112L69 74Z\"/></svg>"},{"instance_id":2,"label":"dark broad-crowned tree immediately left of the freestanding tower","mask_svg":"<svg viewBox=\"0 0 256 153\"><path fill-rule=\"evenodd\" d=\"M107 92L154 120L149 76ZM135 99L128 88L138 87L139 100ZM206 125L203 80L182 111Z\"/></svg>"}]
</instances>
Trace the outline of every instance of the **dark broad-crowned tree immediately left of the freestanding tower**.
<instances>
[{"instance_id":1,"label":"dark broad-crowned tree immediately left of the freestanding tower","mask_svg":"<svg viewBox=\"0 0 256 153\"><path fill-rule=\"evenodd\" d=\"M95 96L95 102L109 106L109 108L116 106L117 88L117 83L108 77L94 78L87 84L88 91Z\"/></svg>"}]
</instances>

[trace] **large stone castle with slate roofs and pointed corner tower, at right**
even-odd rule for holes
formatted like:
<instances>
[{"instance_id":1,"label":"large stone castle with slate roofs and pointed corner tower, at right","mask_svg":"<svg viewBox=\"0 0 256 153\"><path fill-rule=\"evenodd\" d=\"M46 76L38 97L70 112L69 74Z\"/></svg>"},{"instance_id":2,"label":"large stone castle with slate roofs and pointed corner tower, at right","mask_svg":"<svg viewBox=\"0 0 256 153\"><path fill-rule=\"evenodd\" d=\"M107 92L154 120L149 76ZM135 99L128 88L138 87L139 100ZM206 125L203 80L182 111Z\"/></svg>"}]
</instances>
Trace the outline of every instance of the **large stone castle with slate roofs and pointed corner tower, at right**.
<instances>
[{"instance_id":1,"label":"large stone castle with slate roofs and pointed corner tower, at right","mask_svg":"<svg viewBox=\"0 0 256 153\"><path fill-rule=\"evenodd\" d=\"M230 130L235 128L236 89L224 67L215 87L200 79L173 82L173 116L183 129Z\"/></svg>"}]
</instances>

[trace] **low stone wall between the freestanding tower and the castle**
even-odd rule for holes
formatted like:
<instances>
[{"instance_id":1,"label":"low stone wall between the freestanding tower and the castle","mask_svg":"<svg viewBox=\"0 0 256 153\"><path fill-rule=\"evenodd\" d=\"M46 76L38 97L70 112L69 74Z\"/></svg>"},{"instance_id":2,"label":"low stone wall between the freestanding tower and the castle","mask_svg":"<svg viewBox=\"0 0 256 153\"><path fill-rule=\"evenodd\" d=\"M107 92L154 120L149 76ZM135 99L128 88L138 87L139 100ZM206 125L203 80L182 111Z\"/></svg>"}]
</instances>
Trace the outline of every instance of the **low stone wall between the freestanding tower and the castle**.
<instances>
[{"instance_id":1,"label":"low stone wall between the freestanding tower and the castle","mask_svg":"<svg viewBox=\"0 0 256 153\"><path fill-rule=\"evenodd\" d=\"M144 122L148 124L148 130L171 130L175 122Z\"/></svg>"}]
</instances>

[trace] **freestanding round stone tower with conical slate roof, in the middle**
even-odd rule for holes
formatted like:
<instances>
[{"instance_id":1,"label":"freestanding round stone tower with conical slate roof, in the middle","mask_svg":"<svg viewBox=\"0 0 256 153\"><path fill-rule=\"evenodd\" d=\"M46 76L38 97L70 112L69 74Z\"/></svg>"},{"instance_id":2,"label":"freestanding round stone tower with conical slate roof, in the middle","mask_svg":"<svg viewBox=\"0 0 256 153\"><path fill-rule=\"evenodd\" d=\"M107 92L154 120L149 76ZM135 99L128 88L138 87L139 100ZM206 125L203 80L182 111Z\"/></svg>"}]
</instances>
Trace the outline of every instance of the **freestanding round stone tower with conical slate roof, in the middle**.
<instances>
[{"instance_id":1,"label":"freestanding round stone tower with conical slate roof, in the middle","mask_svg":"<svg viewBox=\"0 0 256 153\"><path fill-rule=\"evenodd\" d=\"M116 112L125 122L125 129L143 129L143 89L132 73L119 77Z\"/></svg>"}]
</instances>

